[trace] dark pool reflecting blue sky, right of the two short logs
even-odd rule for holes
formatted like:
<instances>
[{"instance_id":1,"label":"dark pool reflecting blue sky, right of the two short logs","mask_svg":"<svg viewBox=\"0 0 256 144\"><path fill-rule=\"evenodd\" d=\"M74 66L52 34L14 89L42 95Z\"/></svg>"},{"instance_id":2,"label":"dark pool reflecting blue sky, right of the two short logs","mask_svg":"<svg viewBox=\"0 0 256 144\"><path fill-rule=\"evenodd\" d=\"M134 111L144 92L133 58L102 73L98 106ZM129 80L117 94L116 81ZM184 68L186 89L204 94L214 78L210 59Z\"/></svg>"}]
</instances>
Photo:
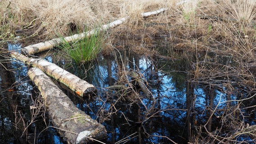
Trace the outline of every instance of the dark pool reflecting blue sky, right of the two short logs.
<instances>
[{"instance_id":1,"label":"dark pool reflecting blue sky, right of the two short logs","mask_svg":"<svg viewBox=\"0 0 256 144\"><path fill-rule=\"evenodd\" d=\"M114 58L114 59L113 59ZM121 51L113 58L98 58L95 62L84 65L72 65L69 71L98 87L98 95L82 102L74 103L92 118L103 122L108 130L105 143L178 143L196 142L199 136L210 142L210 132L230 121L227 117L234 113L236 102L221 103L221 99L239 99L239 94L223 93L223 86L197 84L190 76L191 65L187 59L166 60L143 58ZM125 70L125 72L123 72ZM136 79L129 76L129 71L137 72L145 79L151 94L142 92ZM123 84L128 88L110 90L105 87ZM71 95L72 96L72 95ZM243 98L241 98L243 99ZM239 103L248 107L248 102ZM214 109L218 105L217 111ZM230 111L223 111L230 107ZM222 110L223 109L223 110ZM246 111L244 109L243 111ZM252 108L251 111L254 109ZM236 110L237 111L237 110ZM238 117L239 116L238 112ZM246 112L247 113L247 112ZM255 117L255 112L254 117ZM253 114L250 115L253 119ZM250 122L249 117L244 117ZM204 126L206 129L204 129ZM231 130L232 127L229 127ZM223 133L217 134L222 135ZM223 136L223 135L222 135Z\"/></svg>"}]
</instances>

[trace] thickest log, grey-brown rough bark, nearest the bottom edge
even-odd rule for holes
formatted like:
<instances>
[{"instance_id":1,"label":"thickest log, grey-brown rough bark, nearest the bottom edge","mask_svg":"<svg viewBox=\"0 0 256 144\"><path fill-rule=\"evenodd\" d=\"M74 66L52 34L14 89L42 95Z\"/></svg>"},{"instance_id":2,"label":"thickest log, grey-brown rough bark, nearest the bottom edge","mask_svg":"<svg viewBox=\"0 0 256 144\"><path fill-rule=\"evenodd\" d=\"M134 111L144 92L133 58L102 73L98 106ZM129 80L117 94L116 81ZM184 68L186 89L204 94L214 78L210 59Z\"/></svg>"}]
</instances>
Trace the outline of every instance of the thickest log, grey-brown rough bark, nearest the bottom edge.
<instances>
[{"instance_id":1,"label":"thickest log, grey-brown rough bark, nearest the bottom edge","mask_svg":"<svg viewBox=\"0 0 256 144\"><path fill-rule=\"evenodd\" d=\"M79 110L44 72L32 67L27 74L40 90L53 125L68 143L84 144L106 138L105 127Z\"/></svg>"}]
</instances>

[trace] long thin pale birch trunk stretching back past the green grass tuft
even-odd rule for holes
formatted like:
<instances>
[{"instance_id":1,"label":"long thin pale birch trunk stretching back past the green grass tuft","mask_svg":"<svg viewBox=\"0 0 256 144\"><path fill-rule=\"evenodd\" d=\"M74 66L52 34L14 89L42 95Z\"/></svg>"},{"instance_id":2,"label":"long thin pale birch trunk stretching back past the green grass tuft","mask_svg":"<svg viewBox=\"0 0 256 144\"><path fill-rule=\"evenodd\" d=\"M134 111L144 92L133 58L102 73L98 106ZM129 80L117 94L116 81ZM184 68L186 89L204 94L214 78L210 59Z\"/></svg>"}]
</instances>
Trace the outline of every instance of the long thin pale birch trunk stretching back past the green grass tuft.
<instances>
[{"instance_id":1,"label":"long thin pale birch trunk stretching back past the green grass tuft","mask_svg":"<svg viewBox=\"0 0 256 144\"><path fill-rule=\"evenodd\" d=\"M141 15L142 15L142 17L148 17L148 16L151 16L151 15L162 13L165 10L167 10L167 9L162 8L162 9L159 9L159 10L156 10L156 11L153 11L153 12L142 13ZM103 25L103 26L99 27L98 29L107 30L109 28L119 26L120 24L125 22L128 18L129 17L120 18L118 20L115 20L112 23ZM94 29L94 30L87 31L87 32L84 32L84 33L80 33L80 34L75 34L73 36L68 36L68 37L65 37L64 40L68 43L72 42L72 41L76 41L76 40L82 39L86 36L91 36L93 33L98 31L98 29ZM52 40L48 40L48 41L45 41L45 42L41 42L41 43L38 43L38 44L29 45L27 47L24 47L24 48L21 49L21 52L22 52L22 54L25 54L25 55L36 54L36 53L51 49L54 46L61 44L62 42L63 41L62 41L61 38L55 38L55 39L52 39Z\"/></svg>"}]
</instances>

